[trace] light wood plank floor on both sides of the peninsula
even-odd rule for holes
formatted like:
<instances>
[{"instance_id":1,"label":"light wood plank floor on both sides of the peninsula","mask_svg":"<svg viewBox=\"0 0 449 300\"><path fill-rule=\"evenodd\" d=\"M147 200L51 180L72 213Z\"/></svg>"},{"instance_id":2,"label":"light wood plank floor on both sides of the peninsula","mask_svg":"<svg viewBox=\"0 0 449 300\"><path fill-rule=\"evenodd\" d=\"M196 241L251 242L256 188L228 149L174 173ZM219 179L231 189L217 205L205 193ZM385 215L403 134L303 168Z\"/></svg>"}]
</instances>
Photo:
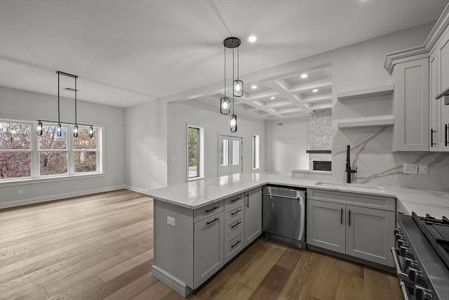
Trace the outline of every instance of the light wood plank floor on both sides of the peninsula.
<instances>
[{"instance_id":1,"label":"light wood plank floor on both sides of the peninsula","mask_svg":"<svg viewBox=\"0 0 449 300\"><path fill-rule=\"evenodd\" d=\"M0 211L0 299L182 299L152 277L152 200L119 190ZM189 299L401 299L389 273L259 239Z\"/></svg>"}]
</instances>

